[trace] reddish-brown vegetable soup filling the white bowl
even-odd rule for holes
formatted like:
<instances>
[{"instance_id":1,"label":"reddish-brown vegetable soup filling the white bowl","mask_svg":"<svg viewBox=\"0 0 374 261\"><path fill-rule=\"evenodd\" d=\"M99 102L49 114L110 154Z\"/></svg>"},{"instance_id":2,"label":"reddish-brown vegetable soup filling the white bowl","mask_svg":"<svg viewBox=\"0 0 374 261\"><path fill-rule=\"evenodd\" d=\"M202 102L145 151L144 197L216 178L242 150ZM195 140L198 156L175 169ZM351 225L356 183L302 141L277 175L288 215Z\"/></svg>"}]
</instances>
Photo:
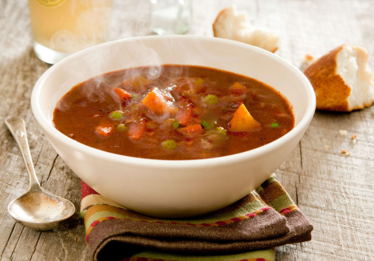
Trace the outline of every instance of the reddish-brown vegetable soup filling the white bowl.
<instances>
[{"instance_id":1,"label":"reddish-brown vegetable soup filling the white bowl","mask_svg":"<svg viewBox=\"0 0 374 261\"><path fill-rule=\"evenodd\" d=\"M292 105L278 91L255 79L189 65L163 65L158 78L148 79L147 75L155 68L110 72L74 86L55 108L55 128L78 142L116 154L192 160L248 151L294 127ZM230 89L237 82L247 91L240 86ZM167 107L165 113L151 112L142 103L155 87L161 93L156 96L171 108ZM132 97L120 98L115 88L124 89ZM213 98L213 103L217 103L207 105L208 95L216 96L218 101ZM230 130L230 120L242 103L261 125L260 130ZM110 114L117 110L122 118L112 119ZM274 123L278 124L277 128ZM212 125L212 128L200 128L200 124ZM101 126L111 130L110 133L100 135L97 129ZM167 141L169 147L165 148L162 144L166 140L173 140L175 144Z\"/></svg>"}]
</instances>

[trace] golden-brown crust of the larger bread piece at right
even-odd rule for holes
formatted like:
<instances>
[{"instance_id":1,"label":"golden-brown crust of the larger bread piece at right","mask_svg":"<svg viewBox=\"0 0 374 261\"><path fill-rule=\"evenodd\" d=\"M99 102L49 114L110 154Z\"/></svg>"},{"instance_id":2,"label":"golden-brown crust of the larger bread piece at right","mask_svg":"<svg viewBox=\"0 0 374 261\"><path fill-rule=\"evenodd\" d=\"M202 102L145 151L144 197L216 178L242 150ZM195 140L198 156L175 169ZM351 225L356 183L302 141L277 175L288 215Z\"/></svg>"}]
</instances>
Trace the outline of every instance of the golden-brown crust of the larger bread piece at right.
<instances>
[{"instance_id":1,"label":"golden-brown crust of the larger bread piece at right","mask_svg":"<svg viewBox=\"0 0 374 261\"><path fill-rule=\"evenodd\" d=\"M343 78L336 73L337 55L343 49L341 45L316 60L305 69L304 74L311 82L315 97L316 109L332 111L351 111L348 96L351 89ZM359 109L359 108L357 108Z\"/></svg>"}]
</instances>

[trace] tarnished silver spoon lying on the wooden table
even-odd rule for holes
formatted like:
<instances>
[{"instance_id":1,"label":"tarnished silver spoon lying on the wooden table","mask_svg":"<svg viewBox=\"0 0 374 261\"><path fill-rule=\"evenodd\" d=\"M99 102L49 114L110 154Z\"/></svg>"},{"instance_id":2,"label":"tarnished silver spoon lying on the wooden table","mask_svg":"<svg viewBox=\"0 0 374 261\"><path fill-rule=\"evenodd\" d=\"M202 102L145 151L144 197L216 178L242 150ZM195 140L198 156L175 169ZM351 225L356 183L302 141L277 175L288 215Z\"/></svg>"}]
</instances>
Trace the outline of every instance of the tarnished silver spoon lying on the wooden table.
<instances>
[{"instance_id":1,"label":"tarnished silver spoon lying on the wooden table","mask_svg":"<svg viewBox=\"0 0 374 261\"><path fill-rule=\"evenodd\" d=\"M27 227L37 230L56 228L74 214L75 207L69 200L49 194L40 187L32 164L25 121L20 117L9 117L5 124L20 148L30 179L29 191L10 202L8 212Z\"/></svg>"}]
</instances>

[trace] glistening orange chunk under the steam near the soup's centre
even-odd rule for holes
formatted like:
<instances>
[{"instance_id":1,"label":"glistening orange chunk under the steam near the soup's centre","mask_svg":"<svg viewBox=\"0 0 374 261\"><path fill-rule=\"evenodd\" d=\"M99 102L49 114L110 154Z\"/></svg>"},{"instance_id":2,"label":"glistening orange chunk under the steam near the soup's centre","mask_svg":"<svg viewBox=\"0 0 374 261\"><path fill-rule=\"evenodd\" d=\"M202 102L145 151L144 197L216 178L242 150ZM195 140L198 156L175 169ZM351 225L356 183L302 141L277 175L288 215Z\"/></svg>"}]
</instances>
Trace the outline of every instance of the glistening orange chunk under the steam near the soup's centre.
<instances>
[{"instance_id":1,"label":"glistening orange chunk under the steam near the soup's centre","mask_svg":"<svg viewBox=\"0 0 374 261\"><path fill-rule=\"evenodd\" d=\"M176 108L170 101L162 95L158 88L153 88L146 97L143 98L142 103L148 107L148 109L155 114L164 114L175 112Z\"/></svg>"}]
</instances>

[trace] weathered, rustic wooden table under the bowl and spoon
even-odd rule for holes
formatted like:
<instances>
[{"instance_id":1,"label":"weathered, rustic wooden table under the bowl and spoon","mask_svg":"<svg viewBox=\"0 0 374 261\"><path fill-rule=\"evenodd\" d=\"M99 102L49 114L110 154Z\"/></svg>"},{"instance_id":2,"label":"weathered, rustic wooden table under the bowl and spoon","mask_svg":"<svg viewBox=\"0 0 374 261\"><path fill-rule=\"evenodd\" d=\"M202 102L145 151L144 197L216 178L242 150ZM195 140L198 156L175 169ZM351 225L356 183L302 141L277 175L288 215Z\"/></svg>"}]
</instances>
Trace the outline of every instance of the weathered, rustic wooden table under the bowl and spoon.
<instances>
[{"instance_id":1,"label":"weathered, rustic wooden table under the bowl and spoon","mask_svg":"<svg viewBox=\"0 0 374 261\"><path fill-rule=\"evenodd\" d=\"M212 36L218 12L234 3L249 22L280 33L277 55L299 66L346 42L365 47L374 67L374 2L369 0L194 0L189 33ZM117 0L111 38L148 33L147 1ZM80 180L42 134L31 113L32 86L49 65L32 51L26 0L0 1L0 257L1 260L89 260L84 226L76 213L53 231L35 231L7 213L26 192L28 177L3 120L20 115L28 126L42 187L79 209ZM347 136L339 134L347 130ZM350 136L357 134L357 143ZM326 149L325 146L330 146ZM349 156L341 154L345 149ZM351 113L316 112L301 142L276 172L314 225L312 241L277 248L277 260L373 260L374 106Z\"/></svg>"}]
</instances>

